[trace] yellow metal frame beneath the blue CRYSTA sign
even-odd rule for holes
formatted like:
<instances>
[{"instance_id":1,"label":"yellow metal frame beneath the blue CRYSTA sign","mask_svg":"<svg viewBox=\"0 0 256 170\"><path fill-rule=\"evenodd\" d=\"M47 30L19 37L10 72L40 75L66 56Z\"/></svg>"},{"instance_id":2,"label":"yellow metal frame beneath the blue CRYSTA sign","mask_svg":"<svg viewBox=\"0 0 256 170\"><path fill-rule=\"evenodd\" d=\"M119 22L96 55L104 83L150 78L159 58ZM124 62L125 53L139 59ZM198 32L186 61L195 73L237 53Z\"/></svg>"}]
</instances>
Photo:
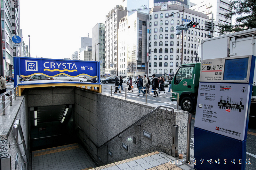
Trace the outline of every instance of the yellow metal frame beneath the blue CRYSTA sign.
<instances>
[{"instance_id":1,"label":"yellow metal frame beneath the blue CRYSTA sign","mask_svg":"<svg viewBox=\"0 0 256 170\"><path fill-rule=\"evenodd\" d=\"M93 91L93 92L98 92L101 93L102 92L102 85L98 85L98 84L81 84L81 83L54 83L54 84L36 84L36 85L19 85L19 96L21 95L21 93L23 92L24 89L26 88L36 88L36 87L55 87L55 86L76 86L82 89L86 89L89 91ZM88 88L91 87L91 88ZM93 87L99 87L99 90L95 90Z\"/></svg>"}]
</instances>

